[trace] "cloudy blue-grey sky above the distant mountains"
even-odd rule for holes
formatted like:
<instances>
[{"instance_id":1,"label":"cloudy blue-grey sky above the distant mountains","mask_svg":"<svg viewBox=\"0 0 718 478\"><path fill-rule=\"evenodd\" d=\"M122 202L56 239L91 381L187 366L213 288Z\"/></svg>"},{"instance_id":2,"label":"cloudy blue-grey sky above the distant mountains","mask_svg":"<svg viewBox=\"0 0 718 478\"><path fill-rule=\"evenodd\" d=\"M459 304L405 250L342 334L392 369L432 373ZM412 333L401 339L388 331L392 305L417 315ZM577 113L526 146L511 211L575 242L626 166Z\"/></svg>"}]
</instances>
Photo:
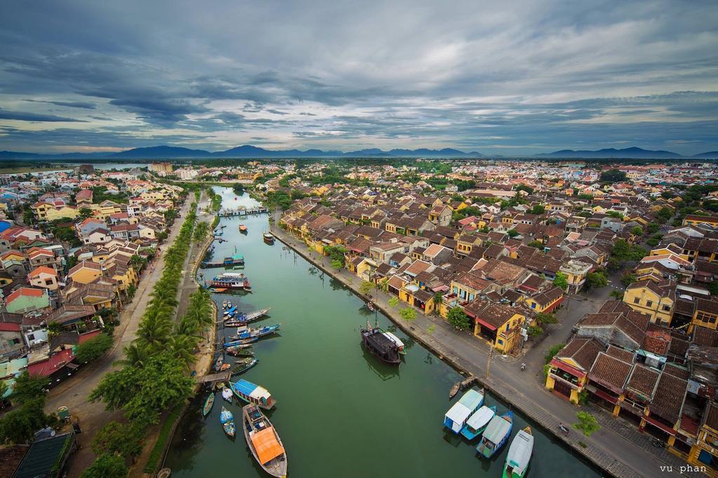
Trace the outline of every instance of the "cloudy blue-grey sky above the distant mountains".
<instances>
[{"instance_id":1,"label":"cloudy blue-grey sky above the distant mountains","mask_svg":"<svg viewBox=\"0 0 718 478\"><path fill-rule=\"evenodd\" d=\"M0 150L718 150L718 2L3 1Z\"/></svg>"}]
</instances>

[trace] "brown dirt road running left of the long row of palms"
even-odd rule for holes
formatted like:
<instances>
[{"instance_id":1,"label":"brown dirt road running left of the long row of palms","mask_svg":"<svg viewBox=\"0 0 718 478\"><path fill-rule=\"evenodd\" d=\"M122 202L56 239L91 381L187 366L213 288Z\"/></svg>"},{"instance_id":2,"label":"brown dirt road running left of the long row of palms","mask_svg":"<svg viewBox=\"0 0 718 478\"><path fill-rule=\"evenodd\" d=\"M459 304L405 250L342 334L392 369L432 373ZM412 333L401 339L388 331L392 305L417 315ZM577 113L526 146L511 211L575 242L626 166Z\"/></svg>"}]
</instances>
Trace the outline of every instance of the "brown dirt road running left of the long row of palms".
<instances>
[{"instance_id":1,"label":"brown dirt road running left of the long row of palms","mask_svg":"<svg viewBox=\"0 0 718 478\"><path fill-rule=\"evenodd\" d=\"M154 262L145 269L140 278L134 299L120 312L120 325L115 328L113 348L95 363L81 368L75 376L52 388L47 396L45 406L47 413L54 413L58 407L67 406L70 409L70 414L79 419L82 427L83 433L78 435L80 449L70 457L67 464L67 476L70 478L79 477L83 469L89 467L95 459L89 446L95 433L108 421L121 419L122 417L121 411L108 412L105 410L104 403L90 403L87 398L90 392L100 383L103 376L115 370L116 367L113 364L116 360L123 358L123 347L134 340L141 317L151 299L152 286L162 277L164 254L167 247L174 242L177 234L179 234L182 222L184 222L190 211L191 203L192 198L188 197L185 204L182 205L180 218L172 224L172 229L170 229L167 240L164 242L164 247L162 247L162 254L159 254L159 257L156 257Z\"/></svg>"}]
</instances>

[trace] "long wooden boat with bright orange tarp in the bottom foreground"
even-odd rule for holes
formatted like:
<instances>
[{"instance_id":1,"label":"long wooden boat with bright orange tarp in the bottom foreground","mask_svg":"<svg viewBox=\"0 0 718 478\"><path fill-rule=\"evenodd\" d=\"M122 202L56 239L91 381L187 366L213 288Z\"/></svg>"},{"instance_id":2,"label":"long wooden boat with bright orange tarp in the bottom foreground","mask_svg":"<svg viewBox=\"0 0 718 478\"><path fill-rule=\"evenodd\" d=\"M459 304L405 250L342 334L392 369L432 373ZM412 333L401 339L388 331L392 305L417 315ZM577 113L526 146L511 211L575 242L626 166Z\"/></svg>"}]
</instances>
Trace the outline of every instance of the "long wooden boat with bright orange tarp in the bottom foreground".
<instances>
[{"instance_id":1,"label":"long wooden boat with bright orange tarp in the bottom foreground","mask_svg":"<svg viewBox=\"0 0 718 478\"><path fill-rule=\"evenodd\" d=\"M273 477L286 477L286 451L269 419L254 405L242 408L242 428L254 459Z\"/></svg>"}]
</instances>

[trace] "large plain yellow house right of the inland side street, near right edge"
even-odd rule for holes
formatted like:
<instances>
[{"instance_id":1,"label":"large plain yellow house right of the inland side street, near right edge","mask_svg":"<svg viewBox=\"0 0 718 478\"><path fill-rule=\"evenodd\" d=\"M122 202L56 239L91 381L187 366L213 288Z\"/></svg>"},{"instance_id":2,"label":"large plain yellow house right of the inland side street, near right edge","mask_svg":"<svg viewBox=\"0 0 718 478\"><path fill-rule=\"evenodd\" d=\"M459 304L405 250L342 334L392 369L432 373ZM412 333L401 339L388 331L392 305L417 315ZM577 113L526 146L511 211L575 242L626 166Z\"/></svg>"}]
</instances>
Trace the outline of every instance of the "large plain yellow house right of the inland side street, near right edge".
<instances>
[{"instance_id":1,"label":"large plain yellow house right of the inland side street, near right edge","mask_svg":"<svg viewBox=\"0 0 718 478\"><path fill-rule=\"evenodd\" d=\"M673 302L676 299L676 282L672 279L663 282L642 280L626 288L623 302L633 310L651 316L651 322L658 325L671 325Z\"/></svg>"}]
</instances>

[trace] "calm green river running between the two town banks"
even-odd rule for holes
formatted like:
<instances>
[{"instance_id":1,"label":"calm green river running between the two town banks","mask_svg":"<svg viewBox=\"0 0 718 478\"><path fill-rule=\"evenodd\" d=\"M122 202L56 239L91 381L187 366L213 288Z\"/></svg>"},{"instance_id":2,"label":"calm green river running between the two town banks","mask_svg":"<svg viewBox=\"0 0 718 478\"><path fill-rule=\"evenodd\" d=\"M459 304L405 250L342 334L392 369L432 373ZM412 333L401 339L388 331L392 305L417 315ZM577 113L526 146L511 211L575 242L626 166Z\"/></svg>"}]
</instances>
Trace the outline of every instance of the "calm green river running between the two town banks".
<instances>
[{"instance_id":1,"label":"calm green river running between the two town banks","mask_svg":"<svg viewBox=\"0 0 718 478\"><path fill-rule=\"evenodd\" d=\"M246 195L236 200L229 188L215 190L222 193L225 208L256 205ZM248 226L248 234L238 233L240 223ZM242 311L271 307L270 317L255 323L281 323L278 335L254 345L259 362L242 378L269 389L277 400L268 416L284 441L289 476L501 476L508 444L493 459L480 459L476 442L470 444L443 427L453 403L449 388L462 379L459 373L281 242L264 244L265 214L223 218L220 225L226 226L223 237L228 242L215 242L214 257L233 254L235 248L243 254L252 292L217 294L215 301L221 308L223 300L231 300ZM205 269L208 276L219 272ZM363 350L359 327L367 320L404 340L408 353L398 368ZM269 476L251 456L241 429L232 440L220 427L221 406L241 420L241 404L228 405L218 394L203 419L200 408L206 397L206 392L195 397L175 431L165 462L172 476ZM491 396L486 402L498 405L500 413L507 409ZM517 415L512 437L526 424ZM528 477L600 476L553 436L531 425L536 442Z\"/></svg>"}]
</instances>

